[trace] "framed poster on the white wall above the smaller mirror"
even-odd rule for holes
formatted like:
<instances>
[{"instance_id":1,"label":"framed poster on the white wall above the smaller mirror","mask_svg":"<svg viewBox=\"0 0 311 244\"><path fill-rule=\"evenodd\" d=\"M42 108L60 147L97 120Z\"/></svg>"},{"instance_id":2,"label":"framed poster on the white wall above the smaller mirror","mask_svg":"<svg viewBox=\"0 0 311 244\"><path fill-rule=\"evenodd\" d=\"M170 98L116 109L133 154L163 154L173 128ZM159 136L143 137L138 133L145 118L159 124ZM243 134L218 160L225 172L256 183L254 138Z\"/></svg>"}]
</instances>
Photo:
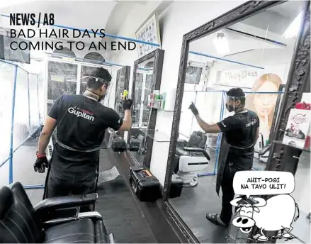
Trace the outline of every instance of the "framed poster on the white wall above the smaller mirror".
<instances>
[{"instance_id":1,"label":"framed poster on the white wall above the smaller mirror","mask_svg":"<svg viewBox=\"0 0 311 244\"><path fill-rule=\"evenodd\" d=\"M159 33L159 19L157 13L147 18L142 26L135 33L137 40L143 40L148 43L157 43L161 46ZM153 50L160 48L154 45L137 43L138 56L142 57Z\"/></svg>"}]
</instances>

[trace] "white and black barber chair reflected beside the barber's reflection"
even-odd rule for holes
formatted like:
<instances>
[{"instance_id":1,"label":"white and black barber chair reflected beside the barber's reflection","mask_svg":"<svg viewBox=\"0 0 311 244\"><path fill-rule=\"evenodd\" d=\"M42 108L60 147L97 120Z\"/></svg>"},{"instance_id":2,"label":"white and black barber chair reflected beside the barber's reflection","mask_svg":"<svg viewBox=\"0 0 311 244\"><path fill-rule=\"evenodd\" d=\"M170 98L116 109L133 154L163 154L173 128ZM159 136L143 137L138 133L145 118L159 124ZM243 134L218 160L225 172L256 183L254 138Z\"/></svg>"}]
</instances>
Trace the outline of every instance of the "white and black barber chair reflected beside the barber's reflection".
<instances>
[{"instance_id":1,"label":"white and black barber chair reflected beside the barber's reflection","mask_svg":"<svg viewBox=\"0 0 311 244\"><path fill-rule=\"evenodd\" d=\"M174 174L181 177L183 187L195 187L198 173L208 166L210 155L205 151L206 135L194 131L188 140L178 140L174 157Z\"/></svg>"}]
</instances>

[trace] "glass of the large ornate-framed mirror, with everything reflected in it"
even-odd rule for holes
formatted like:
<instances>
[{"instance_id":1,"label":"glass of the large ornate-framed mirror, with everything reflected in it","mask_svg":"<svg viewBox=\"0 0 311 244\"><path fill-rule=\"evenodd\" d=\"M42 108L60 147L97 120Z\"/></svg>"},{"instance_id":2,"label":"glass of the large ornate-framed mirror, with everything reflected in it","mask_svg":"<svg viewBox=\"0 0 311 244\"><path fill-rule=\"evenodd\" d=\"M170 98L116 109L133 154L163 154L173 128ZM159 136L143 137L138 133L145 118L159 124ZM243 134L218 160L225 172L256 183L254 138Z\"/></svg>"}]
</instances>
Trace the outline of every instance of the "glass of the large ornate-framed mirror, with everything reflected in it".
<instances>
[{"instance_id":1,"label":"glass of the large ornate-framed mirror, with everything reflected in it","mask_svg":"<svg viewBox=\"0 0 311 244\"><path fill-rule=\"evenodd\" d=\"M232 217L232 172L266 167L302 8L303 2L288 1L189 45L169 202L202 243L227 243L236 235L247 239L247 233L222 228L230 226ZM200 119L194 115L196 109ZM244 112L256 118L257 134L256 128L254 133L239 134L233 122L221 125L220 121L232 121L234 113ZM237 145L254 138L248 148L237 149L249 153L231 160L239 164L227 163L232 145L227 145L227 154L225 146L220 147L222 137L226 142L230 136L231 141L239 140ZM221 189L220 197L215 189ZM293 235L299 236L300 229L294 229Z\"/></svg>"}]
</instances>

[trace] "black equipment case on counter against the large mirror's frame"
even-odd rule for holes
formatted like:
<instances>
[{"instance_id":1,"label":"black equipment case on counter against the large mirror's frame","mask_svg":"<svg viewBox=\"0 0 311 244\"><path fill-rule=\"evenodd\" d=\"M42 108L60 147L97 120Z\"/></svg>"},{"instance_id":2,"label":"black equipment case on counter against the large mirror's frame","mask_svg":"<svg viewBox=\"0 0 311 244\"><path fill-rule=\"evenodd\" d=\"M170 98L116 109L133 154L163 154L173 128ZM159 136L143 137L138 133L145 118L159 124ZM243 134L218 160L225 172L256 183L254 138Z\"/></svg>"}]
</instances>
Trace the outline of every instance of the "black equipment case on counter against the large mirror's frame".
<instances>
[{"instance_id":1,"label":"black equipment case on counter against the large mirror's frame","mask_svg":"<svg viewBox=\"0 0 311 244\"><path fill-rule=\"evenodd\" d=\"M130 167L130 186L140 201L156 201L161 196L159 180L145 166Z\"/></svg>"}]
</instances>

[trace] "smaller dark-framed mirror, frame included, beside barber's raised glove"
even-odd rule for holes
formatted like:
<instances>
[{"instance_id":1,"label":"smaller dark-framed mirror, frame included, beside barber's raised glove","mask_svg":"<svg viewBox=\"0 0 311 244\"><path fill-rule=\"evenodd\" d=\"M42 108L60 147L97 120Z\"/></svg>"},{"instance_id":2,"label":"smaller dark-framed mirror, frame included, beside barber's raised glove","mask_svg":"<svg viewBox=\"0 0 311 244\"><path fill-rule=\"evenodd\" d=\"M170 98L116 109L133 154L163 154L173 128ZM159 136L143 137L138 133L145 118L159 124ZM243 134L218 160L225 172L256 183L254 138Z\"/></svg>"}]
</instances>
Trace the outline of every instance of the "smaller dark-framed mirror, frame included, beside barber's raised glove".
<instances>
[{"instance_id":1,"label":"smaller dark-framed mirror, frame included, beside barber's raised glove","mask_svg":"<svg viewBox=\"0 0 311 244\"><path fill-rule=\"evenodd\" d=\"M149 167L157 109L150 96L161 85L164 50L154 50L134 62L132 82L132 128L128 136L130 158L135 165Z\"/></svg>"}]
</instances>

